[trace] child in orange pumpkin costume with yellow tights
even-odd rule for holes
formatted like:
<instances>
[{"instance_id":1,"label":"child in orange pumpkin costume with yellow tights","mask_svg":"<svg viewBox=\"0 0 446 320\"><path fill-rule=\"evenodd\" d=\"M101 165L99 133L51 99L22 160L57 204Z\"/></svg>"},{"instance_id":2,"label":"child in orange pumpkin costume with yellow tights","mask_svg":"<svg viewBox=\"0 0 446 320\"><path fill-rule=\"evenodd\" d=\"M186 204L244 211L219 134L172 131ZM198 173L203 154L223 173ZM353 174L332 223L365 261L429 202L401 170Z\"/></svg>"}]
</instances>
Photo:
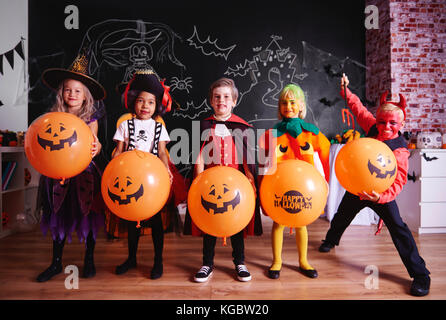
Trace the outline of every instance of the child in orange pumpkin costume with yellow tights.
<instances>
[{"instance_id":1,"label":"child in orange pumpkin costume with yellow tights","mask_svg":"<svg viewBox=\"0 0 446 320\"><path fill-rule=\"evenodd\" d=\"M277 162L299 159L315 165L314 153L317 152L328 183L330 142L315 125L303 120L307 107L302 89L295 84L286 85L280 92L278 107L279 119L282 121L274 126L276 131L267 131L259 141L260 147L265 149L265 155ZM271 144L270 139L276 143ZM269 150L270 145L275 149ZM262 176L259 175L259 178L261 180ZM283 225L273 223L271 231L273 262L268 270L268 277L271 279L280 277L283 229ZM309 278L316 278L318 273L307 260L307 227L296 228L296 244L299 252L300 271Z\"/></svg>"}]
</instances>

